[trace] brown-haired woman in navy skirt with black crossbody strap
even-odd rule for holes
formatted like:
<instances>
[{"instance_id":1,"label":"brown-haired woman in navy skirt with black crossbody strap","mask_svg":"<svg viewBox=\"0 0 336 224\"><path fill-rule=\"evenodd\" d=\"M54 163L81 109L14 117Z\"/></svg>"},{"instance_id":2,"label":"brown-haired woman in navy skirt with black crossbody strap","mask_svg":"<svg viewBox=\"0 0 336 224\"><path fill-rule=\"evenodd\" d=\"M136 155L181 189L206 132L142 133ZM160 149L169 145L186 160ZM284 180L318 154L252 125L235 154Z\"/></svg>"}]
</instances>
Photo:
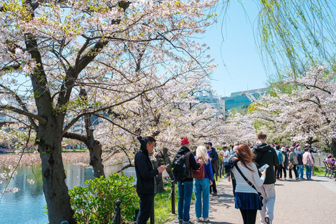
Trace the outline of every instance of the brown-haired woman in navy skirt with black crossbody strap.
<instances>
[{"instance_id":1,"label":"brown-haired woman in navy skirt with black crossbody strap","mask_svg":"<svg viewBox=\"0 0 336 224\"><path fill-rule=\"evenodd\" d=\"M255 188L260 188L265 181L266 169L261 172L262 175L259 176L258 169L252 162L253 153L251 149L245 144L239 145L237 148L237 158L237 166L246 179L253 183ZM240 210L244 224L254 224L257 210L261 210L262 207L258 192L245 181L236 167L232 168L232 172L235 175L237 183L235 190L235 208Z\"/></svg>"}]
</instances>

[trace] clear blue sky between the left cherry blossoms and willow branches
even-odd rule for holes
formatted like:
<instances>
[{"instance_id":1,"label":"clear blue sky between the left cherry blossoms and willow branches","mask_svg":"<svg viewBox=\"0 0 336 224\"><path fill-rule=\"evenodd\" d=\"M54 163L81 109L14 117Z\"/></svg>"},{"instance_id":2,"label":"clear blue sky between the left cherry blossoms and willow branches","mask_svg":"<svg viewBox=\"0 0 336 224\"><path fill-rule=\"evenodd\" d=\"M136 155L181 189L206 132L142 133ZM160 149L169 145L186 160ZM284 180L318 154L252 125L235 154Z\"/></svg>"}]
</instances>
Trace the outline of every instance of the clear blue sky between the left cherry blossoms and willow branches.
<instances>
[{"instance_id":1,"label":"clear blue sky between the left cherry blossoms and willow branches","mask_svg":"<svg viewBox=\"0 0 336 224\"><path fill-rule=\"evenodd\" d=\"M223 97L231 92L266 87L266 72L253 36L253 31L258 35L257 5L253 1L240 4L234 0L230 1L226 15L221 10L218 7L218 22L209 27L201 41L209 45L209 54L218 64L212 87Z\"/></svg>"}]
</instances>

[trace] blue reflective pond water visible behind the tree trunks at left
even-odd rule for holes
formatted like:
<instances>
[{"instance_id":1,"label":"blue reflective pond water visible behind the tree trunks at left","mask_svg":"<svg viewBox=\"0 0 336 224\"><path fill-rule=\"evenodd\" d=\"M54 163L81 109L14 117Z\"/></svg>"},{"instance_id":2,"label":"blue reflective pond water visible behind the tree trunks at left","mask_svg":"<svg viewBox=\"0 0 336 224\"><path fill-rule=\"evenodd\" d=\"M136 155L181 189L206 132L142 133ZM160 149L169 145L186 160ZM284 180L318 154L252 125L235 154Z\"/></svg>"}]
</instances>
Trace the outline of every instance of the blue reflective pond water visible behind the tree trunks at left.
<instances>
[{"instance_id":1,"label":"blue reflective pond water visible behind the tree trunks at left","mask_svg":"<svg viewBox=\"0 0 336 224\"><path fill-rule=\"evenodd\" d=\"M104 172L107 175L114 174L123 167L123 164L106 167ZM65 164L66 185L69 189L73 186L84 186L87 179L93 179L93 170L90 167L81 165ZM48 216L45 214L46 205L42 189L41 166L18 167L18 174L10 181L10 188L19 188L17 193L5 193L0 204L0 223L48 223ZM134 176L134 168L125 170L125 175ZM34 184L27 182L33 179ZM5 181L0 184L2 191L6 187Z\"/></svg>"}]
</instances>

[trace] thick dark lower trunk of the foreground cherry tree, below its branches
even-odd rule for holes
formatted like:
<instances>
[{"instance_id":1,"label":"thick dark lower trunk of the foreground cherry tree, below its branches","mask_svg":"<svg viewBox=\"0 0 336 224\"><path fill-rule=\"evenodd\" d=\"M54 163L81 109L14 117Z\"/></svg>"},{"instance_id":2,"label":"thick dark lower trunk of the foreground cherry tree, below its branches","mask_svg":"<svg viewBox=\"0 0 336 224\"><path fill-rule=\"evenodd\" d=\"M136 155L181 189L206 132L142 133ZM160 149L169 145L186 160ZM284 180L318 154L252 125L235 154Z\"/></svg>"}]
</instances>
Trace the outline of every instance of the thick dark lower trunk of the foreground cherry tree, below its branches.
<instances>
[{"instance_id":1,"label":"thick dark lower trunk of the foreground cherry tree, below its branches","mask_svg":"<svg viewBox=\"0 0 336 224\"><path fill-rule=\"evenodd\" d=\"M43 193L48 206L49 223L76 223L73 220L68 187L64 181L66 175L62 162L62 125L55 122L55 118L49 117L46 125L39 125L36 141L41 157Z\"/></svg>"}]
</instances>

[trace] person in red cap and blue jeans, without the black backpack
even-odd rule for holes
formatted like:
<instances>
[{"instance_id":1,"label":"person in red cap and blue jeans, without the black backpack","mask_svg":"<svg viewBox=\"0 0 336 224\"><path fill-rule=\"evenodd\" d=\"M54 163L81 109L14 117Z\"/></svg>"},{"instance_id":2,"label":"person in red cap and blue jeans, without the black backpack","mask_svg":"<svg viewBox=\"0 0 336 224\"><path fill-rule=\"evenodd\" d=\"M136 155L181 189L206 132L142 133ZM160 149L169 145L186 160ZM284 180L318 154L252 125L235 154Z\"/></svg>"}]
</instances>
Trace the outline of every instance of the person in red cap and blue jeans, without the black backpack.
<instances>
[{"instance_id":1,"label":"person in red cap and blue jeans, without the black backpack","mask_svg":"<svg viewBox=\"0 0 336 224\"><path fill-rule=\"evenodd\" d=\"M193 195L193 170L200 168L200 163L195 161L193 153L189 150L189 140L187 138L181 139L181 148L177 152L178 155L185 155L187 178L184 181L177 181L179 188L179 202L177 210L179 213L179 223L190 223L190 202Z\"/></svg>"}]
</instances>

